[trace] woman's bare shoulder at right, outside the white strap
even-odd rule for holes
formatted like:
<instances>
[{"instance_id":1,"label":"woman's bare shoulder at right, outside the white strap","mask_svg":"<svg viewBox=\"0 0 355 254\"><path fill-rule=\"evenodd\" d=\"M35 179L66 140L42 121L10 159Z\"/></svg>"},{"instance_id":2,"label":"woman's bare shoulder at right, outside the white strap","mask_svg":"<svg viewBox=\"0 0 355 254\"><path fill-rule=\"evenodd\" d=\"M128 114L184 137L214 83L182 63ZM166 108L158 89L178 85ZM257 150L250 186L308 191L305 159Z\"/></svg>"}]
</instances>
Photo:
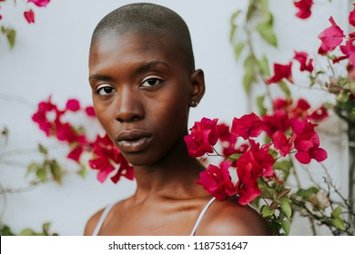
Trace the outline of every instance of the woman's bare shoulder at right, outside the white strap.
<instances>
[{"instance_id":1,"label":"woman's bare shoulder at right, outside the white strap","mask_svg":"<svg viewBox=\"0 0 355 254\"><path fill-rule=\"evenodd\" d=\"M197 235L263 236L269 226L259 213L236 200L215 200L198 226Z\"/></svg>"}]
</instances>

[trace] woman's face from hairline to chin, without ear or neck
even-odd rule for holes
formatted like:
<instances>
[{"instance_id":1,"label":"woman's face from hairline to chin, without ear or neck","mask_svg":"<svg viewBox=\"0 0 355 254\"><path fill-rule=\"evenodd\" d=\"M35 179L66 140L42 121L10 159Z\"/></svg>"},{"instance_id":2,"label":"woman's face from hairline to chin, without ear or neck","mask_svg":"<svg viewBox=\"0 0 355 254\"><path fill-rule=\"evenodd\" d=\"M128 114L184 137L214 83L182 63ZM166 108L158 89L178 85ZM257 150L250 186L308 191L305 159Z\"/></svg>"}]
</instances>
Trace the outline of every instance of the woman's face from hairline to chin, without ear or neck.
<instances>
[{"instance_id":1,"label":"woman's face from hairline to chin, without ear or neck","mask_svg":"<svg viewBox=\"0 0 355 254\"><path fill-rule=\"evenodd\" d=\"M191 78L172 39L105 34L89 56L96 116L135 166L149 166L187 133Z\"/></svg>"}]
</instances>

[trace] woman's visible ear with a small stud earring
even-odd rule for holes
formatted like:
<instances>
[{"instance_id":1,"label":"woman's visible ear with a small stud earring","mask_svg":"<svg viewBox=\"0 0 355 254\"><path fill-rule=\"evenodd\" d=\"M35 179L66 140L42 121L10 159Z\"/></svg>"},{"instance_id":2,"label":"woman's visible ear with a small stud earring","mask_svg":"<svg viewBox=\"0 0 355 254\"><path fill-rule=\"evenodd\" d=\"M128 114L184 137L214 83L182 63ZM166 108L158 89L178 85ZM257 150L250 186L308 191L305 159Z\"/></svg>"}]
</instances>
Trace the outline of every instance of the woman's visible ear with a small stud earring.
<instances>
[{"instance_id":1,"label":"woman's visible ear with a small stud earring","mask_svg":"<svg viewBox=\"0 0 355 254\"><path fill-rule=\"evenodd\" d=\"M196 70L190 75L190 106L196 107L205 94L205 75L201 69Z\"/></svg>"}]
</instances>

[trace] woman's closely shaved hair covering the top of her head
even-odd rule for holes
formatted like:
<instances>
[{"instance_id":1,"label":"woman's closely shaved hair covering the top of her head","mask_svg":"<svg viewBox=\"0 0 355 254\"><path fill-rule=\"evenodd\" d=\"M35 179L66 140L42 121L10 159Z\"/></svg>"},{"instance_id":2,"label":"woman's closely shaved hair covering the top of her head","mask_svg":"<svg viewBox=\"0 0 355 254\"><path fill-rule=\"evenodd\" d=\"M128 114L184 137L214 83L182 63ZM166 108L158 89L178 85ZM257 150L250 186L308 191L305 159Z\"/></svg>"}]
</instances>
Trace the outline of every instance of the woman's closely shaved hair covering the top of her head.
<instances>
[{"instance_id":1,"label":"woman's closely shaved hair covering the top of her head","mask_svg":"<svg viewBox=\"0 0 355 254\"><path fill-rule=\"evenodd\" d=\"M106 34L149 34L168 36L170 46L177 47L188 72L195 70L188 25L174 11L154 4L124 5L106 15L97 25L92 35L91 47Z\"/></svg>"}]
</instances>

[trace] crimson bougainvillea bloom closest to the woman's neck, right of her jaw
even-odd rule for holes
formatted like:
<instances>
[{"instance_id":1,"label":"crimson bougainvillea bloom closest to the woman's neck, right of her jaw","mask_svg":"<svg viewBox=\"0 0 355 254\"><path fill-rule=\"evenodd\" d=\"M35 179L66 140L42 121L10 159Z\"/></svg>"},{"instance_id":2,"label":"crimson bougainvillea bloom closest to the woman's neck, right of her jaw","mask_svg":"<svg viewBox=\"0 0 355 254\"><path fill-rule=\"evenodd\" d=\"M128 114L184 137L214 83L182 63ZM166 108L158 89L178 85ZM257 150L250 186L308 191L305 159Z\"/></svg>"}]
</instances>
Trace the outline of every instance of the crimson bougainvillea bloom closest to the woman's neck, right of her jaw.
<instances>
[{"instance_id":1,"label":"crimson bougainvillea bloom closest to the woman's neck, right of her jaw","mask_svg":"<svg viewBox=\"0 0 355 254\"><path fill-rule=\"evenodd\" d=\"M205 117L201 122L195 122L191 133L184 137L191 157L199 157L213 151L212 146L218 142L217 122L218 119L210 120Z\"/></svg>"}]
</instances>

